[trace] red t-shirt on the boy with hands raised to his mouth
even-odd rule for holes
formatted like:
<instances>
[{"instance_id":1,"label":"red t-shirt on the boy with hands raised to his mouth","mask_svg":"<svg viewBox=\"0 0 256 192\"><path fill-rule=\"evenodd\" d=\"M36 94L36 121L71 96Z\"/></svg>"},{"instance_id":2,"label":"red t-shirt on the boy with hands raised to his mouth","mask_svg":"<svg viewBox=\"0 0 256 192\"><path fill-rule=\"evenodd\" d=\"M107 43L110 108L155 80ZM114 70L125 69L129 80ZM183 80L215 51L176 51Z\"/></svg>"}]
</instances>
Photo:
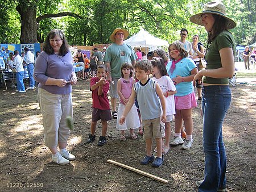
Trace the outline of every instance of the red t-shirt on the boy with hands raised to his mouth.
<instances>
[{"instance_id":1,"label":"red t-shirt on the boy with hands raised to his mouth","mask_svg":"<svg viewBox=\"0 0 256 192\"><path fill-rule=\"evenodd\" d=\"M92 77L90 79L90 87L95 85L100 79L98 77ZM93 107L99 108L100 110L110 110L108 91L109 91L109 82L102 87L103 93L102 95L98 95L98 87L97 89L92 91L93 98Z\"/></svg>"}]
</instances>

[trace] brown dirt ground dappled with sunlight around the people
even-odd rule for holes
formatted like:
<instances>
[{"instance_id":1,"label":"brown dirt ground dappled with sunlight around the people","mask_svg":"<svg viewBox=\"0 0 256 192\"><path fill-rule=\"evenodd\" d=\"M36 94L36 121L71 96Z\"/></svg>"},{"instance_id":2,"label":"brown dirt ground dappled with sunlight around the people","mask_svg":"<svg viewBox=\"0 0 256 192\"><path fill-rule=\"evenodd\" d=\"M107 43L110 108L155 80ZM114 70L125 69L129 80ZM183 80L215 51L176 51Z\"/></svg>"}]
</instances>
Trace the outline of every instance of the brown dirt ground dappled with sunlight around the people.
<instances>
[{"instance_id":1,"label":"brown dirt ground dappled with sunlight around the people","mask_svg":"<svg viewBox=\"0 0 256 192\"><path fill-rule=\"evenodd\" d=\"M28 84L28 82L26 82ZM10 87L10 86L9 86ZM233 99L226 116L223 135L227 154L228 191L256 191L256 86L231 87ZM113 139L103 147L97 140L86 144L90 131L91 93L89 80L73 86L75 128L71 131L68 149L76 160L69 165L51 162L51 153L44 145L42 115L37 90L16 93L0 89L0 191L196 191L196 181L204 176L202 119L200 106L193 110L195 143L189 151L171 147L160 168L140 165L145 155L142 136L120 141L116 120L109 122ZM172 129L174 123L172 123ZM154 145L155 146L155 145ZM164 178L164 184L119 166L114 160Z\"/></svg>"}]
</instances>

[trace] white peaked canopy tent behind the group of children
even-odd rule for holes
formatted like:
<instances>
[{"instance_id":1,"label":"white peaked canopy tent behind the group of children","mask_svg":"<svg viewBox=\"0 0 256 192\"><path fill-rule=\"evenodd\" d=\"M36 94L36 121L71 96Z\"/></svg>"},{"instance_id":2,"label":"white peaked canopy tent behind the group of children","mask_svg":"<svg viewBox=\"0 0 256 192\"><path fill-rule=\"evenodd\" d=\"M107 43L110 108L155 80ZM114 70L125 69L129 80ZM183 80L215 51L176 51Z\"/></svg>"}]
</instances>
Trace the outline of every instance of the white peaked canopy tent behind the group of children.
<instances>
[{"instance_id":1,"label":"white peaked canopy tent behind the group of children","mask_svg":"<svg viewBox=\"0 0 256 192\"><path fill-rule=\"evenodd\" d=\"M132 47L159 47L169 45L168 41L154 37L143 29L141 29L138 34L135 34L124 42Z\"/></svg>"}]
</instances>

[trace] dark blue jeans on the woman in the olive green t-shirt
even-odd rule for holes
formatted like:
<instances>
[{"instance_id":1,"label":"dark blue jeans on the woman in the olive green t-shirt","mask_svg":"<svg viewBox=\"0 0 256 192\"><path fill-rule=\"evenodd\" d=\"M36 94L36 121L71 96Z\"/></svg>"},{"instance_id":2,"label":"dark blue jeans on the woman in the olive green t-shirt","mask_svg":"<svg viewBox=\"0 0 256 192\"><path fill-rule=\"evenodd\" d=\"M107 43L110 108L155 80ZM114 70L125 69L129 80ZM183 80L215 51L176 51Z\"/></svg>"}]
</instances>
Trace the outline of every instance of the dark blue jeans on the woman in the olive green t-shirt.
<instances>
[{"instance_id":1,"label":"dark blue jeans on the woman in the olive green t-shirt","mask_svg":"<svg viewBox=\"0 0 256 192\"><path fill-rule=\"evenodd\" d=\"M199 191L217 191L226 185L226 152L222 123L231 102L228 85L203 87L204 182Z\"/></svg>"}]
</instances>

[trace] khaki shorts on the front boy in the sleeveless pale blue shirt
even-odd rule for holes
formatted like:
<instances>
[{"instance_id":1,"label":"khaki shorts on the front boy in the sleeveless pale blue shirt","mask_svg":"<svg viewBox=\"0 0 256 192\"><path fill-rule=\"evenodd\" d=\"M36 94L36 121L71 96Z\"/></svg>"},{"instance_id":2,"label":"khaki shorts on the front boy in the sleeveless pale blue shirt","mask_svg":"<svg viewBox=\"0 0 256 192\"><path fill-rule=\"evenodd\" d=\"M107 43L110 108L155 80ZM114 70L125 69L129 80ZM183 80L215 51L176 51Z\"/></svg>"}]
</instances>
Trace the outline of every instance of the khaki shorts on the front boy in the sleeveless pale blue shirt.
<instances>
[{"instance_id":1,"label":"khaki shorts on the front boy in the sleeveless pale blue shirt","mask_svg":"<svg viewBox=\"0 0 256 192\"><path fill-rule=\"evenodd\" d=\"M142 127L144 132L144 139L151 139L151 138L162 138L160 126L160 117L155 119L147 119L142 120Z\"/></svg>"}]
</instances>

